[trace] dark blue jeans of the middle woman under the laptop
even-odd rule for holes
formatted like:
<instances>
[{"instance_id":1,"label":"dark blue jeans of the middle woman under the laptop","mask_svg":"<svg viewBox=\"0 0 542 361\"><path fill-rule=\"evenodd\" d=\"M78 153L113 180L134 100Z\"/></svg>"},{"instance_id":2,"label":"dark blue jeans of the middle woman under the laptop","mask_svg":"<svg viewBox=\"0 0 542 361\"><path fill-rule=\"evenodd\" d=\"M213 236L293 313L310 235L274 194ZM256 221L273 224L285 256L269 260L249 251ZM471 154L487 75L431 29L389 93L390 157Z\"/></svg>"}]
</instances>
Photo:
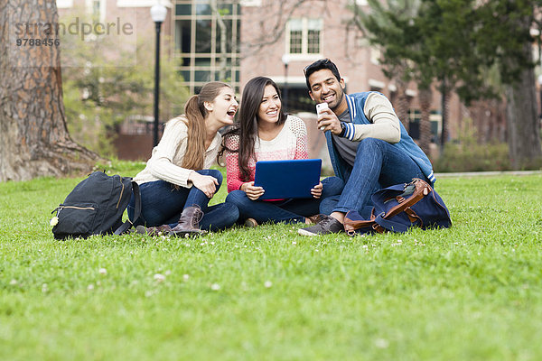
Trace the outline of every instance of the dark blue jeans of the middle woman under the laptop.
<instances>
[{"instance_id":1,"label":"dark blue jeans of the middle woman under the laptop","mask_svg":"<svg viewBox=\"0 0 542 361\"><path fill-rule=\"evenodd\" d=\"M338 177L322 180L320 199L282 199L275 201L251 200L243 190L233 190L226 197L226 204L233 204L239 210L239 220L254 218L258 223L265 222L304 222L305 217L319 213L331 214L332 208L323 208L323 199L341 194L344 182Z\"/></svg>"}]
</instances>

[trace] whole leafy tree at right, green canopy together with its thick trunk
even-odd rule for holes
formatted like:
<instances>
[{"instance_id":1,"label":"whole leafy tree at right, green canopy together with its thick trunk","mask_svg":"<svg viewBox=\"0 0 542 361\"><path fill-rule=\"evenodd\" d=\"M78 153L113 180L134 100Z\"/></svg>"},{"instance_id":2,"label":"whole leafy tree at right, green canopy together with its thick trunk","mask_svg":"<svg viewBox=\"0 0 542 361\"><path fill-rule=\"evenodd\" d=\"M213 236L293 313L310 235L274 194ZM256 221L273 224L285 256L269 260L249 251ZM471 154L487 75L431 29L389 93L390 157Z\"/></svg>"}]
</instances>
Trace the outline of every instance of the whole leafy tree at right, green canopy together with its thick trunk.
<instances>
[{"instance_id":1,"label":"whole leafy tree at right, green canopy together with its thick trunk","mask_svg":"<svg viewBox=\"0 0 542 361\"><path fill-rule=\"evenodd\" d=\"M454 90L469 104L503 97L505 88L510 157L519 168L525 159L532 161L541 154L530 34L541 3L369 0L369 14L355 7L354 17L369 41L383 49L383 63L391 69L408 64L404 77L415 79L420 89L440 82L444 94ZM406 5L410 11L401 11Z\"/></svg>"}]
</instances>

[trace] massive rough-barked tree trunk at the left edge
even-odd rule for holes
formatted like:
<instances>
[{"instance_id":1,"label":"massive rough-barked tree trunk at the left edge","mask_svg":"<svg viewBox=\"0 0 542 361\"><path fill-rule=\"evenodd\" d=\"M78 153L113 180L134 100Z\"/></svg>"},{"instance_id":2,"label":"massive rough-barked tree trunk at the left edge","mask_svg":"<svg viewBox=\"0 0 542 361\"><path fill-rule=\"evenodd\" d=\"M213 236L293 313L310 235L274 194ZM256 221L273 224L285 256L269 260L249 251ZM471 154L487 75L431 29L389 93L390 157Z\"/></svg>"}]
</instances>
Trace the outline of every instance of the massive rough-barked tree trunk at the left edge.
<instances>
[{"instance_id":1,"label":"massive rough-barked tree trunk at the left edge","mask_svg":"<svg viewBox=\"0 0 542 361\"><path fill-rule=\"evenodd\" d=\"M0 3L0 181L89 172L99 159L68 134L60 49L35 43L58 39L46 23L58 23L54 1ZM34 45L17 46L17 39Z\"/></svg>"}]
</instances>

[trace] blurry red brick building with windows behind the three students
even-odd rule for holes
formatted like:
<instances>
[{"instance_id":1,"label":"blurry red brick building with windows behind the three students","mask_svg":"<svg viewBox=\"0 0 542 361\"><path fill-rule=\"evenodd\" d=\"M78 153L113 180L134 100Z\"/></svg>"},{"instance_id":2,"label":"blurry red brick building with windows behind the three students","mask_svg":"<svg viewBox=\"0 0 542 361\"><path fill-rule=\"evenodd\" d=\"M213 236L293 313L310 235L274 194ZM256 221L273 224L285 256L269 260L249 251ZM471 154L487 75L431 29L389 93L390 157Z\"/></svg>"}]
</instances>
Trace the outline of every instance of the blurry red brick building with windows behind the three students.
<instances>
[{"instance_id":1,"label":"blurry red brick building with windows behind the three students","mask_svg":"<svg viewBox=\"0 0 542 361\"><path fill-rule=\"evenodd\" d=\"M307 95L303 69L321 58L337 63L347 92L378 90L394 102L396 86L378 64L379 53L351 26L349 8L356 1L301 2L296 0L173 0L162 1L168 9L163 24L163 41L169 56L178 59L179 71L197 93L211 80L225 80L241 94L244 83L257 75L274 79L283 89L285 109L300 114L310 129L312 155L321 154L322 141L312 126L314 105ZM150 7L154 0L58 0L59 12L81 5L100 21L116 18L133 23L135 34L154 33ZM154 43L149 44L154 51ZM154 64L149 64L154 66ZM410 97L410 133L416 138L419 106L416 85ZM440 129L440 93L434 92L433 130ZM457 134L464 107L457 97L450 102L449 129ZM142 115L145 116L145 115Z\"/></svg>"}]
</instances>

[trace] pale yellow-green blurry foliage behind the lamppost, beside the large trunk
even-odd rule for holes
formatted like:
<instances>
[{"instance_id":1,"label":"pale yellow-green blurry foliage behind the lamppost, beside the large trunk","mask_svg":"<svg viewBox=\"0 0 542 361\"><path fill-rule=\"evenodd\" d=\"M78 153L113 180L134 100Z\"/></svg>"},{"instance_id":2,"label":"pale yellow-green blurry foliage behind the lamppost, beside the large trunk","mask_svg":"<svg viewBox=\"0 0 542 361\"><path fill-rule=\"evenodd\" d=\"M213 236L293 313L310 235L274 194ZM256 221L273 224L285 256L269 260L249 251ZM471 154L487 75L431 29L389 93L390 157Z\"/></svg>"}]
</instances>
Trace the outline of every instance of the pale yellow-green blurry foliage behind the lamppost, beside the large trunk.
<instances>
[{"instance_id":1,"label":"pale yellow-green blurry foliage behind the lamppost, beside the large trunk","mask_svg":"<svg viewBox=\"0 0 542 361\"><path fill-rule=\"evenodd\" d=\"M107 36L62 39L63 97L71 136L105 156L114 154L116 126L130 117L153 116L154 37L138 37L126 49ZM189 97L182 76L165 54L161 57L161 122L182 113Z\"/></svg>"}]
</instances>

